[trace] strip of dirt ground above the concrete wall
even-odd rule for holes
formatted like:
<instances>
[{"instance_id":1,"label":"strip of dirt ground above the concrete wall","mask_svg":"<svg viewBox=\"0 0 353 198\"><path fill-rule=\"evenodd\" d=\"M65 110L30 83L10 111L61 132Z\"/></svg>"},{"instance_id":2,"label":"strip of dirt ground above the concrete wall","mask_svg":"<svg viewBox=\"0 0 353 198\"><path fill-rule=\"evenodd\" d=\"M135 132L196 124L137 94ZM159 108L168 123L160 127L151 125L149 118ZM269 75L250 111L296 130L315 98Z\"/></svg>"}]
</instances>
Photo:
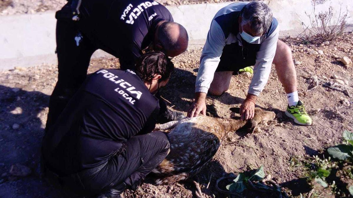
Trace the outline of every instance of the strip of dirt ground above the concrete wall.
<instances>
[{"instance_id":1,"label":"strip of dirt ground above the concrete wall","mask_svg":"<svg viewBox=\"0 0 353 198\"><path fill-rule=\"evenodd\" d=\"M238 0L156 0L163 5L186 5L219 3ZM13 14L33 14L37 12L56 11L67 3L67 0L0 0L0 16Z\"/></svg>"}]
</instances>

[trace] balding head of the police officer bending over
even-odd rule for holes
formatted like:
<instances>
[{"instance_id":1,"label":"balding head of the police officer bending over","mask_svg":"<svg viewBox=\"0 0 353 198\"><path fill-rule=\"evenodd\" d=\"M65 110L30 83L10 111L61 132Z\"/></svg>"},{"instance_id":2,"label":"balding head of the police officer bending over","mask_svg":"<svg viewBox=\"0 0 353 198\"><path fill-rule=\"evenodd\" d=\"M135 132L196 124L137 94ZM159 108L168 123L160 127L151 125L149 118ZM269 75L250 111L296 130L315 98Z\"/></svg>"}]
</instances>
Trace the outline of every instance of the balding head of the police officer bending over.
<instances>
[{"instance_id":1,"label":"balding head of the police officer bending over","mask_svg":"<svg viewBox=\"0 0 353 198\"><path fill-rule=\"evenodd\" d=\"M177 26L180 31L179 37L173 37L171 35L171 27ZM180 44L180 39L185 40L186 43L189 41L189 36L184 26L171 22L165 21L158 27L158 39L161 42L163 48L168 48L168 50L179 51L183 45Z\"/></svg>"}]
</instances>

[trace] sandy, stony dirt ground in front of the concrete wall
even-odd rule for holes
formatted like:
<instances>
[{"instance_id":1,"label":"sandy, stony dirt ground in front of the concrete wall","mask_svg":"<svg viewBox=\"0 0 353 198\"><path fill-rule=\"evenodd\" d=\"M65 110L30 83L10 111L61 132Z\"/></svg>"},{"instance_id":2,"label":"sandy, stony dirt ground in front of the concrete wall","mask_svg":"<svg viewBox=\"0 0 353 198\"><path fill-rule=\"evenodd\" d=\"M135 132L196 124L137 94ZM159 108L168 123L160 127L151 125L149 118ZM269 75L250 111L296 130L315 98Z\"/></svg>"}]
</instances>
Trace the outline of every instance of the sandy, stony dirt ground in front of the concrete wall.
<instances>
[{"instance_id":1,"label":"sandy, stony dirt ground in front of the concrete wall","mask_svg":"<svg viewBox=\"0 0 353 198\"><path fill-rule=\"evenodd\" d=\"M287 42L295 61L301 62L296 66L298 91L313 119L313 125L299 126L285 116L286 95L273 67L257 105L274 111L277 118L257 134L228 134L214 159L195 178L199 180L205 197L226 197L215 189L217 178L261 165L264 165L265 173L270 174L291 196L297 197L300 193L305 194L311 190L300 169L293 167L290 160L293 157L315 155L328 146L340 143L343 130L353 131L353 99L345 93L322 85L315 87L310 79L329 81L333 80L330 79L331 76L337 75L348 83L344 86L353 94L352 64L345 67L342 62L333 58L347 56L353 60L352 41L353 33L347 32L338 42L328 46ZM310 55L308 51L311 49L318 53L322 50L323 54ZM162 96L170 102L167 104L173 110L186 114L192 104L201 51L202 49L188 50L173 59L175 72L162 91ZM89 73L99 68L119 68L119 61L116 58L92 60ZM17 67L14 70L0 71L0 197L67 197L41 180L38 171L49 95L57 75L56 65ZM229 108L240 106L250 81L249 77L235 75L225 94L220 97L208 96L208 115L233 117ZM28 175L26 177L9 173L10 167L16 163L29 167L31 173L25 174ZM146 179L135 195L138 198L193 197L195 186L189 181L155 186L150 179ZM246 197L271 196L247 192Z\"/></svg>"}]
</instances>

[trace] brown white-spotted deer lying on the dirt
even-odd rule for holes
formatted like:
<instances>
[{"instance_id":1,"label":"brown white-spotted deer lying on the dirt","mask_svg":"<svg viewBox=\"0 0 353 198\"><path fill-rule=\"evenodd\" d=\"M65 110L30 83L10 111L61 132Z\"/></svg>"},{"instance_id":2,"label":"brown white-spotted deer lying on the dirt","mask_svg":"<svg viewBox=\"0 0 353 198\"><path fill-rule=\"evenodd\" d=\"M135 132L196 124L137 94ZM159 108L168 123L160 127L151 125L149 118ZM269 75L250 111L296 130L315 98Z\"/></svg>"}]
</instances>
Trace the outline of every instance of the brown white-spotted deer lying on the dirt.
<instances>
[{"instance_id":1,"label":"brown white-spotted deer lying on the dirt","mask_svg":"<svg viewBox=\"0 0 353 198\"><path fill-rule=\"evenodd\" d=\"M252 120L220 119L208 116L183 118L156 127L169 130L170 153L152 172L157 185L175 183L197 174L216 154L225 135L249 124L253 129L258 123L275 118L275 113L255 108Z\"/></svg>"}]
</instances>

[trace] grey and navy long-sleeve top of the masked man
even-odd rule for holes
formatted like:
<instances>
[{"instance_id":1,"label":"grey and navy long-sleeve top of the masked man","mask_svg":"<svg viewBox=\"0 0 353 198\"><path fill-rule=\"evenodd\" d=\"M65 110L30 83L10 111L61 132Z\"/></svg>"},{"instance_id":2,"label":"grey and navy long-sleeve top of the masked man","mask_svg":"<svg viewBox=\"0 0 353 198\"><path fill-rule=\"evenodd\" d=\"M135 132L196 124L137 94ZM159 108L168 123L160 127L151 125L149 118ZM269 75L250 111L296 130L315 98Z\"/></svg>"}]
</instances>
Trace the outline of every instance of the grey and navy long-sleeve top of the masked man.
<instances>
[{"instance_id":1,"label":"grey and navy long-sleeve top of the masked man","mask_svg":"<svg viewBox=\"0 0 353 198\"><path fill-rule=\"evenodd\" d=\"M239 12L246 4L248 4L248 2L237 2L230 4L218 11L216 16L213 18L210 30L208 32L207 41L201 55L200 67L195 84L195 92L208 92L225 45L239 43L241 46L240 34L237 33L237 35L234 35L232 32L229 32L229 27L223 25L224 23L221 26L216 20L217 17L221 16L222 19L227 18L227 14L231 16L232 12ZM256 96L258 96L263 90L271 72L271 65L275 56L279 37L279 28L277 24L273 28L275 28L274 31L269 35L265 34L255 42L251 43L261 44L259 51L256 53L254 76L248 90L248 93Z\"/></svg>"}]
</instances>

